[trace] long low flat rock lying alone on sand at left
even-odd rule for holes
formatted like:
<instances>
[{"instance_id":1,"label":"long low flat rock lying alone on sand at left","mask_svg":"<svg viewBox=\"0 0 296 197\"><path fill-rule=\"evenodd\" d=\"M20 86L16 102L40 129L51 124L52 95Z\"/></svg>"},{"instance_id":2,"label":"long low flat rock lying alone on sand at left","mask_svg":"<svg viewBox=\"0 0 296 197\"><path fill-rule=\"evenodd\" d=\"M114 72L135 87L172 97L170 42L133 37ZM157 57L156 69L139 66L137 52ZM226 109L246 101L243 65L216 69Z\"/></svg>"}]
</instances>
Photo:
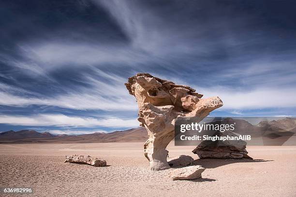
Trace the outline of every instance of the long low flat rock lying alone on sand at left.
<instances>
[{"instance_id":1,"label":"long low flat rock lying alone on sand at left","mask_svg":"<svg viewBox=\"0 0 296 197\"><path fill-rule=\"evenodd\" d=\"M99 158L93 158L91 156L85 156L85 155L72 155L72 156L66 156L66 162L70 163L85 163L89 164L91 166L95 167L102 167L106 166L107 163L104 159L99 159Z\"/></svg>"}]
</instances>

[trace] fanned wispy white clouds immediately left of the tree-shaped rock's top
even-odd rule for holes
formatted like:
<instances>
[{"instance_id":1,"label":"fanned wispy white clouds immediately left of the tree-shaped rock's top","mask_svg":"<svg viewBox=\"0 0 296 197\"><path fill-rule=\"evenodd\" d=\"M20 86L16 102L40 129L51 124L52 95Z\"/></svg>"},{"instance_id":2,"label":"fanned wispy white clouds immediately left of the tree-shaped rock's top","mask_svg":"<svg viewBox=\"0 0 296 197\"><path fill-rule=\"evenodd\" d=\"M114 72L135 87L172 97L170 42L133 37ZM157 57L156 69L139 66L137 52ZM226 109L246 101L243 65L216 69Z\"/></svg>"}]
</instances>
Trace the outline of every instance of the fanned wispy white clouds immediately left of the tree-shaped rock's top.
<instances>
[{"instance_id":1,"label":"fanned wispy white clouds immediately left of the tree-shaped rock's top","mask_svg":"<svg viewBox=\"0 0 296 197\"><path fill-rule=\"evenodd\" d=\"M136 111L135 99L129 95L126 79L93 68L92 75L85 75L91 87L59 87L62 94L55 97L34 94L0 83L0 105L26 107L48 105L75 110ZM96 78L95 78L96 76ZM102 78L106 79L104 82Z\"/></svg>"}]
</instances>

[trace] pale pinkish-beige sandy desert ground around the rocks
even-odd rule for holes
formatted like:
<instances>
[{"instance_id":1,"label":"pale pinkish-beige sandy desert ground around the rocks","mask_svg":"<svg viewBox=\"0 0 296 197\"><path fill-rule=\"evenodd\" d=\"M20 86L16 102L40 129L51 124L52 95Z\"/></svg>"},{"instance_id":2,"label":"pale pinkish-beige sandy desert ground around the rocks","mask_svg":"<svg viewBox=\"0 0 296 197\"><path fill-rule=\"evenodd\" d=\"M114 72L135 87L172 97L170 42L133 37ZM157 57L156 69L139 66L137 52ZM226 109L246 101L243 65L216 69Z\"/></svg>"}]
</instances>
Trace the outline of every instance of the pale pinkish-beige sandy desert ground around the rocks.
<instances>
[{"instance_id":1,"label":"pale pinkish-beige sandy desert ground around the rocks","mask_svg":"<svg viewBox=\"0 0 296 197\"><path fill-rule=\"evenodd\" d=\"M198 159L193 148L170 144L168 150L207 168L202 178L172 181L172 169L148 169L143 142L0 144L0 186L30 186L36 197L296 197L296 146L248 147L261 159L254 161ZM63 163L73 154L101 157L110 166Z\"/></svg>"}]
</instances>

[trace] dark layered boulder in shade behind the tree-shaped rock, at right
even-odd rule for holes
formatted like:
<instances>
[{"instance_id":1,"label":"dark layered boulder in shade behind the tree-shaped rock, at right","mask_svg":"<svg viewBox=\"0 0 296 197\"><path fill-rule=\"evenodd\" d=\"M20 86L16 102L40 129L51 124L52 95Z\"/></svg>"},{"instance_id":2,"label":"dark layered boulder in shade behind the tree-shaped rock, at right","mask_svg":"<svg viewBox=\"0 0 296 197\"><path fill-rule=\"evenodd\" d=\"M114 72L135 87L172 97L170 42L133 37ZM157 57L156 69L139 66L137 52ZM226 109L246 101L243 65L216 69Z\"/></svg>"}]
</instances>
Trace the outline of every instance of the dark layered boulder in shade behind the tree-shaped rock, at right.
<instances>
[{"instance_id":1,"label":"dark layered boulder in shade behind the tree-shaped rock, at right","mask_svg":"<svg viewBox=\"0 0 296 197\"><path fill-rule=\"evenodd\" d=\"M238 136L231 131L217 132L217 136ZM247 142L238 141L202 141L192 153L197 154L199 158L234 158L252 159L246 150Z\"/></svg>"}]
</instances>

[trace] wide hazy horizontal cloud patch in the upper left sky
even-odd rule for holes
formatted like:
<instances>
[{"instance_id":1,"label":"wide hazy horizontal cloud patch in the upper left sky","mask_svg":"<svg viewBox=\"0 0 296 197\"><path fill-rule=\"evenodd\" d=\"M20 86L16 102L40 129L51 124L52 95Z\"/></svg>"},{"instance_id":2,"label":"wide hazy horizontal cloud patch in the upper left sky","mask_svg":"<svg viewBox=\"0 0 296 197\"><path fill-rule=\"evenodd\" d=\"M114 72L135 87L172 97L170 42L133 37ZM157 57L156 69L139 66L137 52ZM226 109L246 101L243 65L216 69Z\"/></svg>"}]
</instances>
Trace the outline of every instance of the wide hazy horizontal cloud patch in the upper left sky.
<instances>
[{"instance_id":1,"label":"wide hazy horizontal cloud patch in the upper left sky","mask_svg":"<svg viewBox=\"0 0 296 197\"><path fill-rule=\"evenodd\" d=\"M79 43L62 41L39 41L19 44L23 56L34 63L11 61L10 64L31 70L37 74L60 65L131 64L148 61L147 54L122 44ZM30 64L30 65L28 65Z\"/></svg>"}]
</instances>

